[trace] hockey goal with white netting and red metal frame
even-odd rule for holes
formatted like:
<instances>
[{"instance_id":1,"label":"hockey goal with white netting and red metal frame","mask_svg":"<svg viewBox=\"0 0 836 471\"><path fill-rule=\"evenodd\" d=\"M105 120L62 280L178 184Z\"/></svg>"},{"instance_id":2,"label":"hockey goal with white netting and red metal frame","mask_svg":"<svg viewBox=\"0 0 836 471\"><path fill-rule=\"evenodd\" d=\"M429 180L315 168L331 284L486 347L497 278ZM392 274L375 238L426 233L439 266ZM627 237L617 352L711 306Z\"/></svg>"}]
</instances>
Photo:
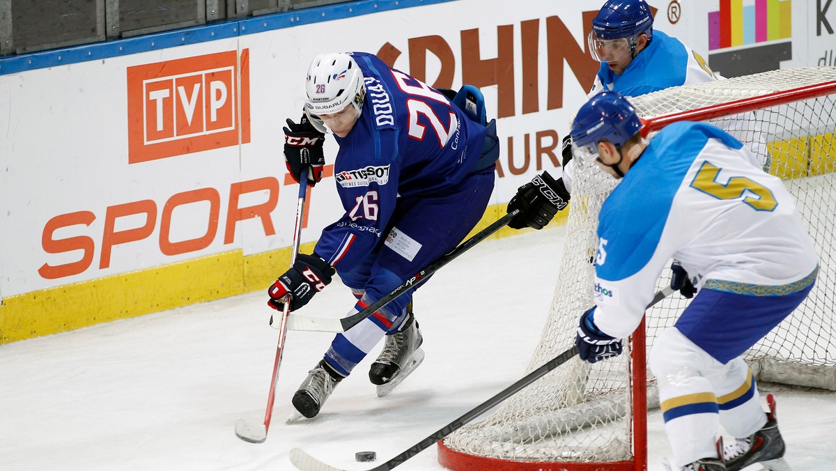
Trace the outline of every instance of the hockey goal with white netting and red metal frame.
<instances>
[{"instance_id":1,"label":"hockey goal with white netting and red metal frame","mask_svg":"<svg viewBox=\"0 0 836 471\"><path fill-rule=\"evenodd\" d=\"M836 67L774 70L631 101L651 136L676 120L707 120L732 132L797 197L818 248L818 282L745 359L761 381L836 390ZM594 304L595 227L616 183L597 166L573 181L558 281L528 371L573 345L579 315ZM669 283L665 272L660 288ZM645 405L658 407L658 394L645 372L642 330L650 351L656 333L673 325L686 304L673 294L647 311L645 329L625 342L624 355L594 365L568 361L487 418L461 427L440 443L441 464L469 470L646 468Z\"/></svg>"}]
</instances>

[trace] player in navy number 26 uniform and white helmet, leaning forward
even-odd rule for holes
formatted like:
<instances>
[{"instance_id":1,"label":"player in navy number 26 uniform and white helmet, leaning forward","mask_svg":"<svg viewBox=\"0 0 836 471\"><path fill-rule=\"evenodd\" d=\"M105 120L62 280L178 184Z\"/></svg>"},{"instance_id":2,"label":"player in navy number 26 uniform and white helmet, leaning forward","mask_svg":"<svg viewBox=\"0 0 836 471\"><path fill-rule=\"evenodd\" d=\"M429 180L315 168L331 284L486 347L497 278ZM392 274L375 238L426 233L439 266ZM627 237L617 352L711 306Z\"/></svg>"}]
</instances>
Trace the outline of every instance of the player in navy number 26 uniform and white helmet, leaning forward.
<instances>
[{"instance_id":1,"label":"player in navy number 26 uniform and white helmet, leaning forward","mask_svg":"<svg viewBox=\"0 0 836 471\"><path fill-rule=\"evenodd\" d=\"M298 310L334 273L363 310L461 242L482 218L494 185L498 140L481 92L446 94L373 54L321 54L310 64L304 115L284 129L294 178L322 178L325 133L339 144L334 179L344 214L324 228L314 253L300 253L269 289L281 310ZM383 396L421 364L412 293L336 335L293 395L304 417L319 413L334 387L385 335L369 377Z\"/></svg>"}]
</instances>

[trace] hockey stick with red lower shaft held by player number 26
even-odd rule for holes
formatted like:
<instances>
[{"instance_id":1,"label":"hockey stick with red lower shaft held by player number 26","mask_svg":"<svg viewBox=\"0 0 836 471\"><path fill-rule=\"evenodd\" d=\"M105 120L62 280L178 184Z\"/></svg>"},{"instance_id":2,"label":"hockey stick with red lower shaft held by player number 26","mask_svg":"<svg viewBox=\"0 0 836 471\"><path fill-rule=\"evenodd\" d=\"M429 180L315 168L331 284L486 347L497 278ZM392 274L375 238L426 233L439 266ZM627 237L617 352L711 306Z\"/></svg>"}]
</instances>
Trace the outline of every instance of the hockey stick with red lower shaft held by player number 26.
<instances>
[{"instance_id":1,"label":"hockey stick with red lower shaft held by player number 26","mask_svg":"<svg viewBox=\"0 0 836 471\"><path fill-rule=\"evenodd\" d=\"M290 254L290 266L296 262L299 253L299 239L302 238L302 218L305 210L305 196L308 193L308 169L303 169L299 175L299 197L296 203L296 223L293 226L293 253ZM264 443L273 417L273 402L276 400L276 381L278 381L278 366L282 362L284 351L284 337L288 334L288 315L290 315L290 296L284 299L282 320L278 328L278 345L276 346L276 361L273 362L273 379L270 381L270 393L267 400L267 412L264 413L264 423L252 425L243 418L235 422L235 434L245 442ZM271 320L273 318L271 317Z\"/></svg>"}]
</instances>

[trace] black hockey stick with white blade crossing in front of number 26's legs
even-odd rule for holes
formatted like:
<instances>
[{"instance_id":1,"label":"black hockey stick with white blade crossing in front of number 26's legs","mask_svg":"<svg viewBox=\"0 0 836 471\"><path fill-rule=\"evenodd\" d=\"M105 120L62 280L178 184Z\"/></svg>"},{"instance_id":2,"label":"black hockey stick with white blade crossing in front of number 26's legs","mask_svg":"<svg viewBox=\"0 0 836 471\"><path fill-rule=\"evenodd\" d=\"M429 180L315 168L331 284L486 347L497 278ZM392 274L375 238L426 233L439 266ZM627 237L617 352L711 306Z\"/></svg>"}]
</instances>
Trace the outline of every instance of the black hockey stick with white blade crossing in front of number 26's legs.
<instances>
[{"instance_id":1,"label":"black hockey stick with white blade crossing in front of number 26's legs","mask_svg":"<svg viewBox=\"0 0 836 471\"><path fill-rule=\"evenodd\" d=\"M400 297L401 294L404 294L410 288L417 288L420 286L431 274L436 273L438 269L441 269L444 265L449 264L453 259L456 259L456 257L462 253L470 250L474 245L482 242L482 240L485 240L485 238L490 236L492 233L504 228L507 223L511 222L511 219L514 218L514 216L517 216L519 211L519 209L515 209L512 212L508 212L505 216L502 216L502 218L497 219L495 223L492 223L487 228L482 229L482 231L474 235L472 238L468 238L466 241L460 243L449 253L441 255L441 257L436 259L436 261L427 264L427 266L424 269L421 269L420 272L413 275L410 279L407 279L397 288L392 289L389 294L385 294L364 310L342 319L293 314L290 315L288 319L288 329L312 330L317 332L344 332L349 330L354 327L354 325L358 325L365 318L375 314L375 312L380 310L383 306L388 305L390 302Z\"/></svg>"}]
</instances>

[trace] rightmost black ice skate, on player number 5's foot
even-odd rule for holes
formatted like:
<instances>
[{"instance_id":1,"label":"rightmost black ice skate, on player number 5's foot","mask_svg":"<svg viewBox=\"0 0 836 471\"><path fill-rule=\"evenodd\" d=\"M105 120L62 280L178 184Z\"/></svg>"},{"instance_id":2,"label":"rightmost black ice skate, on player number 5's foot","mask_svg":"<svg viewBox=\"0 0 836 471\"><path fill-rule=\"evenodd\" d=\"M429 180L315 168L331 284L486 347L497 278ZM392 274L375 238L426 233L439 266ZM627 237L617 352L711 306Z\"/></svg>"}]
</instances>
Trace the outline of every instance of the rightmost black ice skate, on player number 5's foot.
<instances>
[{"instance_id":1,"label":"rightmost black ice skate, on player number 5's foot","mask_svg":"<svg viewBox=\"0 0 836 471\"><path fill-rule=\"evenodd\" d=\"M772 394L767 396L769 412L767 412L767 424L752 436L737 438L723 448L723 456L726 458L726 469L738 471L789 471L787 462L783 459L785 451L781 432L778 431L778 424L775 418L775 399Z\"/></svg>"}]
</instances>

